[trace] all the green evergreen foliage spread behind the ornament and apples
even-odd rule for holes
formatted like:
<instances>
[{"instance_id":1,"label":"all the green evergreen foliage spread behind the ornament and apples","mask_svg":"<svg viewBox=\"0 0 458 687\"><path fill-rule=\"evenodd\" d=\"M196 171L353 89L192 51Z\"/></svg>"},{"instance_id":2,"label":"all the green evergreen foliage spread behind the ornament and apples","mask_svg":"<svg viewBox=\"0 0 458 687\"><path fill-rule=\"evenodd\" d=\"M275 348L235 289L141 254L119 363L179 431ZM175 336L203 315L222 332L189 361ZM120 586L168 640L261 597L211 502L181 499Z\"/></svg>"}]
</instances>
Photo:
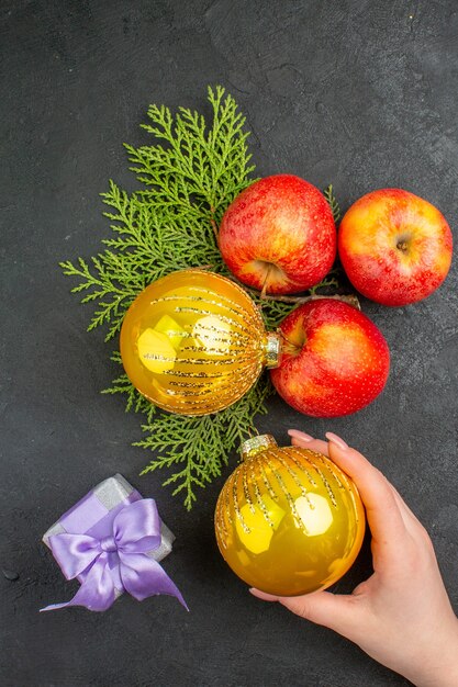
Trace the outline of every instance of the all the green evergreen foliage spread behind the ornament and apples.
<instances>
[{"instance_id":1,"label":"all the green evergreen foliage spread behind the ornament and apples","mask_svg":"<svg viewBox=\"0 0 458 687\"><path fill-rule=\"evenodd\" d=\"M137 294L160 277L202 266L227 274L216 245L217 225L227 205L255 181L255 167L245 117L235 100L221 87L209 88L208 99L210 125L186 108L174 115L164 105L150 105L149 123L143 127L154 137L153 143L138 148L125 145L139 190L129 194L110 181L101 194L112 232L102 240L104 249L89 260L60 263L64 274L79 282L71 292L81 296L81 303L94 306L88 330L104 326L107 341L119 334ZM325 195L336 217L339 211L332 187ZM334 284L334 280L331 273L313 291ZM252 295L270 329L292 309L291 304ZM121 363L119 352L112 359ZM189 509L197 489L220 475L230 453L256 433L255 418L267 413L271 386L264 374L236 404L204 417L159 410L123 373L103 393L123 396L126 410L142 414L144 438L135 446L155 452L144 473L168 469L171 475L164 484L183 495Z\"/></svg>"}]
</instances>

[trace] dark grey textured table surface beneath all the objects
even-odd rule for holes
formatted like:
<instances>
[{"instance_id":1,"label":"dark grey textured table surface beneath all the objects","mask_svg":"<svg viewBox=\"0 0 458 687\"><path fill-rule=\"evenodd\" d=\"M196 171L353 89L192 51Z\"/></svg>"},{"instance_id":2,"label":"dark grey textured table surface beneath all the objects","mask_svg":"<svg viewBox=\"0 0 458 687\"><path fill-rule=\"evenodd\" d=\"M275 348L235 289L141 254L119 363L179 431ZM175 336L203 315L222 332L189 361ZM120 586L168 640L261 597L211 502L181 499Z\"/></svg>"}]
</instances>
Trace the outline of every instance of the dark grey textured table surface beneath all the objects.
<instances>
[{"instance_id":1,"label":"dark grey textured table surface beneath all the objects","mask_svg":"<svg viewBox=\"0 0 458 687\"><path fill-rule=\"evenodd\" d=\"M257 173L335 187L343 209L382 187L458 211L454 0L3 0L1 117L0 683L5 687L387 687L405 680L333 632L252 598L217 553L215 498L191 514L139 477L139 423L100 395L112 380L103 333L69 294L59 260L100 249L99 193L124 188L123 142L142 144L149 103L208 112L206 85L237 99ZM456 235L455 235L456 236ZM428 300L364 302L392 352L382 396L348 418L316 420L280 399L259 429L334 430L389 476L429 530L458 606L458 271ZM235 464L235 457L232 465ZM40 615L70 597L41 543L100 480L122 472L154 495L177 536L170 597L126 595L103 613ZM368 549L337 589L369 574ZM18 577L15 574L16 573ZM15 578L16 577L16 578Z\"/></svg>"}]
</instances>

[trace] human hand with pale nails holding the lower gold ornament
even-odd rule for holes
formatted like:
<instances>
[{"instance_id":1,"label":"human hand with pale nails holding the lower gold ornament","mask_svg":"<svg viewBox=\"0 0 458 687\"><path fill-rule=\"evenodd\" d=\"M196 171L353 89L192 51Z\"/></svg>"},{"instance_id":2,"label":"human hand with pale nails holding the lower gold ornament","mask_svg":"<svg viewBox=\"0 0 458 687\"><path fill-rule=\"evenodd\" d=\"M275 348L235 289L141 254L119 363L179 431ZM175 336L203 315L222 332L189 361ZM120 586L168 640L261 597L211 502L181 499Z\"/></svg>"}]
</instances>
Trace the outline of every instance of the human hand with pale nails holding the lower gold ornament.
<instances>
[{"instance_id":1,"label":"human hand with pale nails holding the lower gold ornament","mask_svg":"<svg viewBox=\"0 0 458 687\"><path fill-rule=\"evenodd\" d=\"M328 455L354 480L372 534L373 574L349 595L252 594L331 628L417 687L457 687L458 619L425 528L382 473L339 437L289 435L294 446Z\"/></svg>"}]
</instances>

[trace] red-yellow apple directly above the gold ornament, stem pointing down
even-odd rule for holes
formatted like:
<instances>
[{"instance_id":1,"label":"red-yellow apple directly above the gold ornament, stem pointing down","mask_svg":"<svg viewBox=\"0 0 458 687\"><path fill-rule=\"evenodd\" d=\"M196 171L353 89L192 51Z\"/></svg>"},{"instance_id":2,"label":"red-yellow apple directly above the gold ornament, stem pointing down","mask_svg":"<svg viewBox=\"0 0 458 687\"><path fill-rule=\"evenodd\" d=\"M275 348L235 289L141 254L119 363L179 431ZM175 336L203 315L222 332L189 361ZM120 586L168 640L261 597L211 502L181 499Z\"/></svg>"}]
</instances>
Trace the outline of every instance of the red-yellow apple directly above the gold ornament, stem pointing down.
<instances>
[{"instance_id":1,"label":"red-yellow apple directly above the gold ornament, stem pointing down","mask_svg":"<svg viewBox=\"0 0 458 687\"><path fill-rule=\"evenodd\" d=\"M245 284L294 293L317 284L336 257L336 228L323 193L292 174L256 181L227 207L220 250Z\"/></svg>"}]
</instances>

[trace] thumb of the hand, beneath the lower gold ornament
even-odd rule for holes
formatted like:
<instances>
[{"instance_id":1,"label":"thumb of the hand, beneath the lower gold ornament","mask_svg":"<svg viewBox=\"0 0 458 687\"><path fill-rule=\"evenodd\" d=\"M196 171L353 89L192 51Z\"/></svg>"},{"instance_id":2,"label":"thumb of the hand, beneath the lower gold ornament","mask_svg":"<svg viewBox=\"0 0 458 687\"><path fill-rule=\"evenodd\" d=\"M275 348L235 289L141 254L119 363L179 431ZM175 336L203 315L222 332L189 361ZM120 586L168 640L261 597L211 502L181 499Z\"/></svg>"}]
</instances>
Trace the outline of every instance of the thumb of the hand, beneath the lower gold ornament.
<instances>
[{"instance_id":1,"label":"thumb of the hand, beneath the lower gold ornament","mask_svg":"<svg viewBox=\"0 0 458 687\"><path fill-rule=\"evenodd\" d=\"M255 588L249 592L258 599L278 601L297 616L329 628L349 640L357 633L361 611L357 596L337 596L331 592L315 592L304 596L273 596Z\"/></svg>"}]
</instances>

